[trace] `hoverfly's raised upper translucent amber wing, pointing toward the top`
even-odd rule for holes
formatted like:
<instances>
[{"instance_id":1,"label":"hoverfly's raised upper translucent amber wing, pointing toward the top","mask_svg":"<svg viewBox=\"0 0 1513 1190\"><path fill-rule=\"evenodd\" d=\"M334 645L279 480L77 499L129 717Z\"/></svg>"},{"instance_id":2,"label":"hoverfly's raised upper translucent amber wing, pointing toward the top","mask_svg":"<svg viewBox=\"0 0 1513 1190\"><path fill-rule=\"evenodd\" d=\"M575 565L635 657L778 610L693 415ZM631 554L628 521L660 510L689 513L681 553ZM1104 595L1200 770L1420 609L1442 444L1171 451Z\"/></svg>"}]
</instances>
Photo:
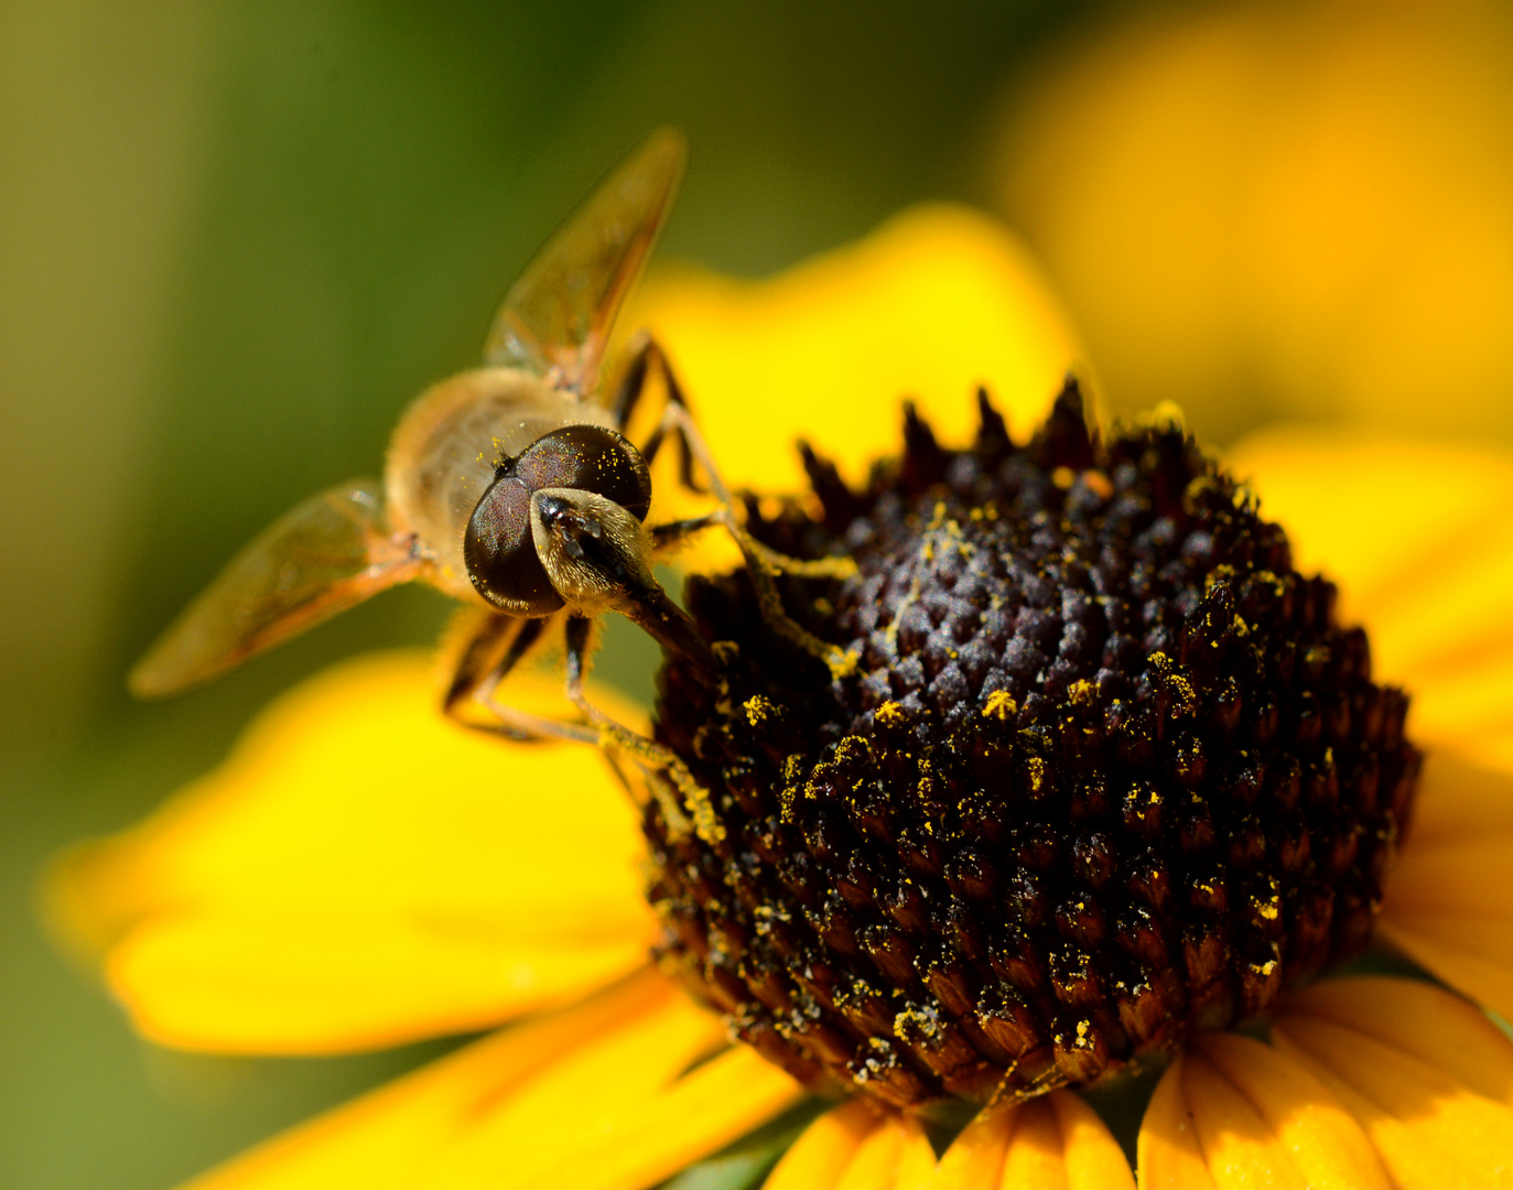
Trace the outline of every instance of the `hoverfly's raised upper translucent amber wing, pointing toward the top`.
<instances>
[{"instance_id":1,"label":"hoverfly's raised upper translucent amber wing, pointing toward the top","mask_svg":"<svg viewBox=\"0 0 1513 1190\"><path fill-rule=\"evenodd\" d=\"M660 129L557 228L493 319L490 364L595 392L614 316L657 242L687 156L682 133Z\"/></svg>"}]
</instances>

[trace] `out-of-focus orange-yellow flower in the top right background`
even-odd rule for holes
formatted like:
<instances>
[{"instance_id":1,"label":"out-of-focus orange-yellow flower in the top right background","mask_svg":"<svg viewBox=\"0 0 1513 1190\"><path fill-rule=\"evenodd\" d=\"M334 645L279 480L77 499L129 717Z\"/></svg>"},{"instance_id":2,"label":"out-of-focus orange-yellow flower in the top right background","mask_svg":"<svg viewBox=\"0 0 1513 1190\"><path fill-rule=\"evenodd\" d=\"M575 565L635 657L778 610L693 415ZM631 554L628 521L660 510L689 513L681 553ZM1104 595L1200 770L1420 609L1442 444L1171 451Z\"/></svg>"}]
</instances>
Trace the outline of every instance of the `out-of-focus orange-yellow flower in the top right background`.
<instances>
[{"instance_id":1,"label":"out-of-focus orange-yellow flower in the top right background","mask_svg":"<svg viewBox=\"0 0 1513 1190\"><path fill-rule=\"evenodd\" d=\"M1513 12L1144 14L1024 80L1000 209L1118 408L1513 435Z\"/></svg>"}]
</instances>

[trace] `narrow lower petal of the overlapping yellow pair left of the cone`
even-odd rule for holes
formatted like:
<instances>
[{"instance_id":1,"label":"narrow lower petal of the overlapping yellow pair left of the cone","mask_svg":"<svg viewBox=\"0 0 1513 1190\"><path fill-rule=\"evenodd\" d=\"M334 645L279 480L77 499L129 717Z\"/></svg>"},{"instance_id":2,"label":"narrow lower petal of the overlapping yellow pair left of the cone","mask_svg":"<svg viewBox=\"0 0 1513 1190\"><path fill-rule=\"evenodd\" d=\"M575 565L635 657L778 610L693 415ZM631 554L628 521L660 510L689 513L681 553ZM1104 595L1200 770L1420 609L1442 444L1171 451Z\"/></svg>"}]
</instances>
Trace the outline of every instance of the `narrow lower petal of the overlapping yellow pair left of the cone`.
<instances>
[{"instance_id":1,"label":"narrow lower petal of the overlapping yellow pair left of the cone","mask_svg":"<svg viewBox=\"0 0 1513 1190\"><path fill-rule=\"evenodd\" d=\"M392 1045L405 1031L478 1031L645 962L646 939L634 934L595 945L487 921L210 909L132 930L106 978L159 1043L321 1054Z\"/></svg>"}]
</instances>

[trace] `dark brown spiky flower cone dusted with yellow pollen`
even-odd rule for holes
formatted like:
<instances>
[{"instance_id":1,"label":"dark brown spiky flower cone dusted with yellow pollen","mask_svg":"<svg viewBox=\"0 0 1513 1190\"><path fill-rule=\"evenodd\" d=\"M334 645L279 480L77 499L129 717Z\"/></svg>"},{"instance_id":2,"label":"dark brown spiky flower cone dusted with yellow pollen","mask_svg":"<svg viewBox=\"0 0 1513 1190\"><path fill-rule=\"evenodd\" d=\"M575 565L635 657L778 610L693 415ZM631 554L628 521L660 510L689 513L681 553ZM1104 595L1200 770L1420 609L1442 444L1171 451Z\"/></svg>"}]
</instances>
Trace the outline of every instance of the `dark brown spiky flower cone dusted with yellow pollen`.
<instances>
[{"instance_id":1,"label":"dark brown spiky flower cone dusted with yellow pollen","mask_svg":"<svg viewBox=\"0 0 1513 1190\"><path fill-rule=\"evenodd\" d=\"M982 399L752 532L853 578L785 608L694 579L719 667L670 658L657 738L711 792L648 804L660 956L814 1087L890 1104L1080 1086L1266 1013L1368 941L1419 753L1334 588L1180 428L1091 437L1076 386L1027 446Z\"/></svg>"}]
</instances>

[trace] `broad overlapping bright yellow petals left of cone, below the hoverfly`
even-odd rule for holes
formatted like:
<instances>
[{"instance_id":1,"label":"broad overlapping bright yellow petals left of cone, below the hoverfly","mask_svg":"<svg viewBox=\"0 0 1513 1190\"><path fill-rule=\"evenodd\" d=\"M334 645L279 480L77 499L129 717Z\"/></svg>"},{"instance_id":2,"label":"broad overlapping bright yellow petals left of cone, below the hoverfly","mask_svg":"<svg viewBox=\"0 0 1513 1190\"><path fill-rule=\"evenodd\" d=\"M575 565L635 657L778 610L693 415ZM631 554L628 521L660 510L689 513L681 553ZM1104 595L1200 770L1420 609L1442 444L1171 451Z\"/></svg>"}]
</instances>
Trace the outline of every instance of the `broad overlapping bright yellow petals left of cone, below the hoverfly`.
<instances>
[{"instance_id":1,"label":"broad overlapping bright yellow petals left of cone, below the hoverfly","mask_svg":"<svg viewBox=\"0 0 1513 1190\"><path fill-rule=\"evenodd\" d=\"M219 770L57 865L57 930L107 951L148 1036L389 1045L563 1003L642 960L640 835L602 758L451 724L430 665L386 655L312 679ZM510 685L522 705L554 696Z\"/></svg>"}]
</instances>

